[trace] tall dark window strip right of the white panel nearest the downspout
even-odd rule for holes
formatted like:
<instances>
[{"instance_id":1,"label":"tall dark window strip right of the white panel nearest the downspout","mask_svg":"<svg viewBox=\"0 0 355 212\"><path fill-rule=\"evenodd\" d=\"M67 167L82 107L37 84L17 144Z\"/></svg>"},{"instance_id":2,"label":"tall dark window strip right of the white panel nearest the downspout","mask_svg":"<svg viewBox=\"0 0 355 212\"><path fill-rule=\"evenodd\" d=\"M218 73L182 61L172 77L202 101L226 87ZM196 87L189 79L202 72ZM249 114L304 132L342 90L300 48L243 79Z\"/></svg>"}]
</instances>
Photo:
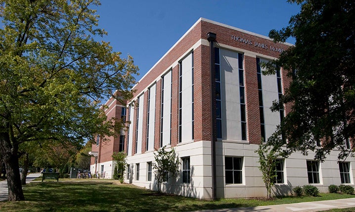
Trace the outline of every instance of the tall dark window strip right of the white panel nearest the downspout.
<instances>
[{"instance_id":1,"label":"tall dark window strip right of the white panel nearest the downspout","mask_svg":"<svg viewBox=\"0 0 355 212\"><path fill-rule=\"evenodd\" d=\"M239 67L239 95L240 95L240 119L242 125L242 140L247 140L247 119L245 111L245 91L244 91L244 69L243 54L238 53Z\"/></svg>"}]
</instances>

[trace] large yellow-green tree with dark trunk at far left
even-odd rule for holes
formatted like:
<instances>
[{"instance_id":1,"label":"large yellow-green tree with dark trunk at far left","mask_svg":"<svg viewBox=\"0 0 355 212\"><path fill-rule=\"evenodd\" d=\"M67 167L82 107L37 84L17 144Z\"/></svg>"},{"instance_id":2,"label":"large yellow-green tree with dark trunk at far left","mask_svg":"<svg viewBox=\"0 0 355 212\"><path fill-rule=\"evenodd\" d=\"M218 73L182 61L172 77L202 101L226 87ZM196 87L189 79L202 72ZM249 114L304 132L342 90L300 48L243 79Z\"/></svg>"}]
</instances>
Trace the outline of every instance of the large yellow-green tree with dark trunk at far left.
<instances>
[{"instance_id":1,"label":"large yellow-green tree with dark trunk at far left","mask_svg":"<svg viewBox=\"0 0 355 212\"><path fill-rule=\"evenodd\" d=\"M137 67L131 56L121 58L109 43L94 40L106 35L92 9L98 0L0 5L0 155L8 200L20 201L20 146L77 146L93 135L117 132L122 124L106 121L99 102L113 96L124 104L131 98Z\"/></svg>"}]
</instances>

